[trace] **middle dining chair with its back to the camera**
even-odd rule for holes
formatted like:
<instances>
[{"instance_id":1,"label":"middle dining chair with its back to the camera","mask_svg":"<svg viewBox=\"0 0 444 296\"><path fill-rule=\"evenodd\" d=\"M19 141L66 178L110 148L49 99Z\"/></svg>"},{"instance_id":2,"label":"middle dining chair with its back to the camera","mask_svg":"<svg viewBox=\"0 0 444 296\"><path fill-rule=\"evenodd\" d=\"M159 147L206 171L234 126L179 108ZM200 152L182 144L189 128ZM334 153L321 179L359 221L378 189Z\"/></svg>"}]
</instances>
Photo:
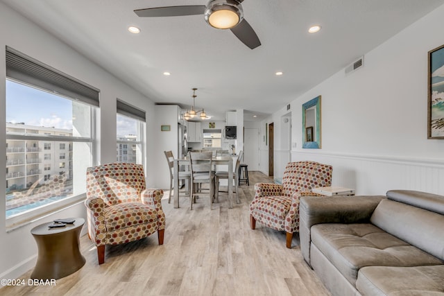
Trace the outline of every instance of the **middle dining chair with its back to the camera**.
<instances>
[{"instance_id":1,"label":"middle dining chair with its back to the camera","mask_svg":"<svg viewBox=\"0 0 444 296\"><path fill-rule=\"evenodd\" d=\"M190 207L193 209L193 203L196 198L203 195L202 184L209 186L210 209L212 209L214 198L214 171L212 168L212 152L190 152L189 162L191 168L191 189Z\"/></svg>"}]
</instances>

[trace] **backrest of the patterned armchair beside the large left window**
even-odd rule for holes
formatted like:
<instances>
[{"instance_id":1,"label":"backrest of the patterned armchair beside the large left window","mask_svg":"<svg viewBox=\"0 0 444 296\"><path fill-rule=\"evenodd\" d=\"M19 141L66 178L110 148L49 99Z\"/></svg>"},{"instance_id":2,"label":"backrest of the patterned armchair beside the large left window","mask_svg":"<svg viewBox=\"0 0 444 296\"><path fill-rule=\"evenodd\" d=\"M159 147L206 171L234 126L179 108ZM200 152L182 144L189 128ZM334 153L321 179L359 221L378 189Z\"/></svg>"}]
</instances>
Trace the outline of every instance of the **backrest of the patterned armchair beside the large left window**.
<instances>
[{"instance_id":1,"label":"backrest of the patterned armchair beside the large left window","mask_svg":"<svg viewBox=\"0 0 444 296\"><path fill-rule=\"evenodd\" d=\"M114 162L87 168L87 198L101 198L108 206L123 202L140 202L146 189L142 164Z\"/></svg>"}]
</instances>

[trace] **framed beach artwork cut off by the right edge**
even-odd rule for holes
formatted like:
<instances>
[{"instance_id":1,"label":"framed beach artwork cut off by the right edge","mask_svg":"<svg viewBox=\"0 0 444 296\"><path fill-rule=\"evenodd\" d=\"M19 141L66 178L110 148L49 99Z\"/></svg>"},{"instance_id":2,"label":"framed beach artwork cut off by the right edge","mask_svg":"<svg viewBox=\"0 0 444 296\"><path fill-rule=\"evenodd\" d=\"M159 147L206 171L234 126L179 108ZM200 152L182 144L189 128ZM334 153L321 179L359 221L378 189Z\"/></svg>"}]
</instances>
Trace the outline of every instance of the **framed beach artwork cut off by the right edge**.
<instances>
[{"instance_id":1,"label":"framed beach artwork cut off by the right edge","mask_svg":"<svg viewBox=\"0 0 444 296\"><path fill-rule=\"evenodd\" d=\"M427 139L444 139L444 45L429 51Z\"/></svg>"}]
</instances>

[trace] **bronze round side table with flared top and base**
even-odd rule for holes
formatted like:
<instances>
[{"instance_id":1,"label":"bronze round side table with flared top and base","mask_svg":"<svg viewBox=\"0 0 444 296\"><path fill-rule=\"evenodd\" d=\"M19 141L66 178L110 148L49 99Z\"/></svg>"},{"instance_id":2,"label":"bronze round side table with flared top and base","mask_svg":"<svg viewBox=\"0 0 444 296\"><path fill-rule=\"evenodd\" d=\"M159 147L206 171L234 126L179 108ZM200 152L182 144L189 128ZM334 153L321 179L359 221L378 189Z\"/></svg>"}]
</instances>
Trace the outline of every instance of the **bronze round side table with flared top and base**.
<instances>
[{"instance_id":1,"label":"bronze round side table with flared top and base","mask_svg":"<svg viewBox=\"0 0 444 296\"><path fill-rule=\"evenodd\" d=\"M78 247L85 219L73 219L76 221L65 227L49 228L53 224L50 222L31 229L38 247L37 263L31 279L60 279L85 265L85 257Z\"/></svg>"}]
</instances>

